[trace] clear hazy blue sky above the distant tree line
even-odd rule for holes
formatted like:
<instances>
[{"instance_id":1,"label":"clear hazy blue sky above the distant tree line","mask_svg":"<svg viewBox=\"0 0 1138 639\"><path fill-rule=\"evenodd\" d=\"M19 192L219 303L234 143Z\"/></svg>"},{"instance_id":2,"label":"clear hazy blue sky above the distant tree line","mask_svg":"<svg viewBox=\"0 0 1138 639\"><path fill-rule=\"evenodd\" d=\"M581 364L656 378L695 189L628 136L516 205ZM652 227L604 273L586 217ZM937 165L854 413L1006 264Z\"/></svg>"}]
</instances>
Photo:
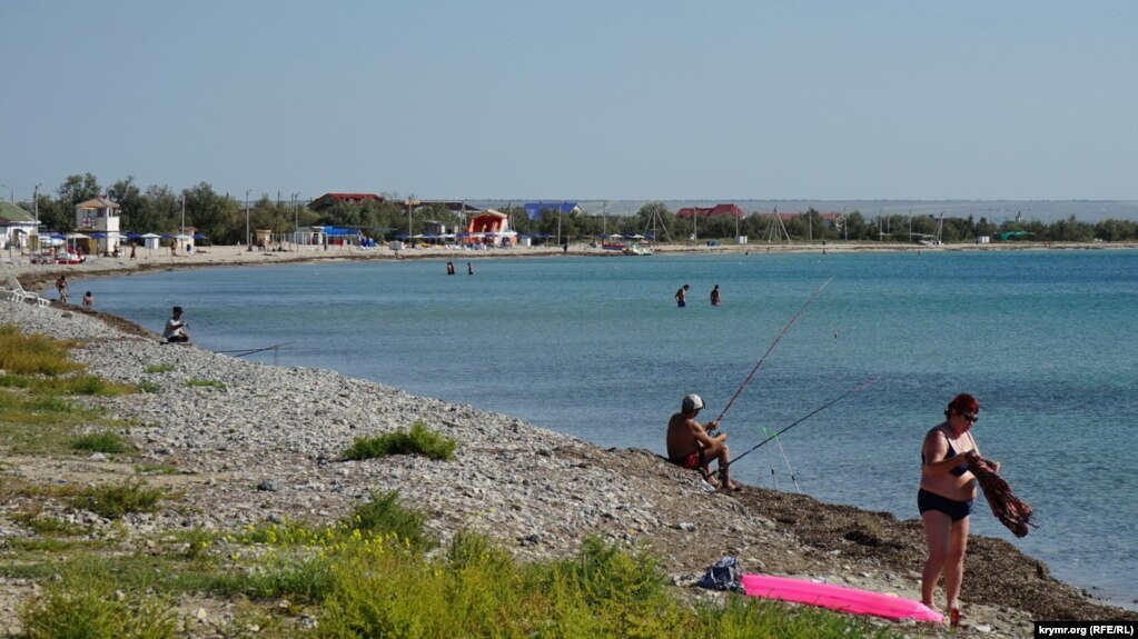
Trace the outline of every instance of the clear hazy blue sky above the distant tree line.
<instances>
[{"instance_id":1,"label":"clear hazy blue sky above the distant tree line","mask_svg":"<svg viewBox=\"0 0 1138 639\"><path fill-rule=\"evenodd\" d=\"M1132 0L0 0L0 194L1133 200L1136 31Z\"/></svg>"}]
</instances>

